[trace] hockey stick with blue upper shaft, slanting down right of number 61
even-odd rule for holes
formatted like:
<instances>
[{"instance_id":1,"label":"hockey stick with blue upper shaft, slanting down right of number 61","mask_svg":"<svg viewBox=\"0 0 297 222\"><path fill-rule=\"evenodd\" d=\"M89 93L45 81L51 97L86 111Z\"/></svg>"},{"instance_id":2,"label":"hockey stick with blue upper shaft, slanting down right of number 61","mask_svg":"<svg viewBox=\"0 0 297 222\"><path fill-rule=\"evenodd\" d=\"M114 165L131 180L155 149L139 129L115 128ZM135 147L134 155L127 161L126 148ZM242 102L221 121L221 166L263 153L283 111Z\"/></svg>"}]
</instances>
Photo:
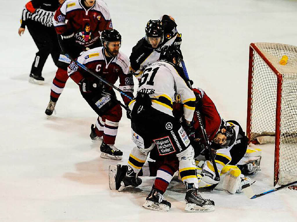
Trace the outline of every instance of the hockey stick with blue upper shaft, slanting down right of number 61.
<instances>
[{"instance_id":1,"label":"hockey stick with blue upper shaft, slanting down right of number 61","mask_svg":"<svg viewBox=\"0 0 297 222\"><path fill-rule=\"evenodd\" d=\"M192 89L192 86L190 84L189 74L187 72L187 68L185 66L184 60L181 61L181 66L182 66L182 68L184 70L184 74L185 74L185 77L186 77L186 80L187 80L186 83L187 83L188 87L190 89ZM210 149L210 143L208 141L208 137L207 137L206 130L205 130L205 127L203 125L203 122L202 122L202 119L201 119L201 116L200 116L200 112L198 110L196 110L195 112L196 112L197 117L198 117L198 121L199 121L201 131L202 131L202 134L203 134L203 138L205 140L206 148L208 149L209 157L211 159L212 165L214 166L214 172L216 174L216 177L214 178L214 180L215 181L220 181L220 175L219 175L219 171L218 171L218 168L217 168L217 164L216 164L216 162L214 160L214 155L212 155L212 152L211 152L211 149Z\"/></svg>"}]
</instances>

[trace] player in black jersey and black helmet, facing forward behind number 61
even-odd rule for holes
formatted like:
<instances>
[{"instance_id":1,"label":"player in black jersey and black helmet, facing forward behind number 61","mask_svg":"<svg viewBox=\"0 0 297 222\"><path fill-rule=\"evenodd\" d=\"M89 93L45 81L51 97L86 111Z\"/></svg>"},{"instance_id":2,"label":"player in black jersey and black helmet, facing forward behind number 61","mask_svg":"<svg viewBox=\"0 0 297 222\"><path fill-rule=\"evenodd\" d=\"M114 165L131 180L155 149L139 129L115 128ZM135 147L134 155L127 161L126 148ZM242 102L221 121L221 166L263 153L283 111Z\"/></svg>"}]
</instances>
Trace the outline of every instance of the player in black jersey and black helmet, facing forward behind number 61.
<instances>
[{"instance_id":1,"label":"player in black jersey and black helmet, facing forward behind number 61","mask_svg":"<svg viewBox=\"0 0 297 222\"><path fill-rule=\"evenodd\" d=\"M132 48L130 55L131 71L137 79L143 70L156 62L164 45L181 44L181 34L177 32L176 23L170 15L163 15L161 20L149 20L146 24L146 36Z\"/></svg>"}]
</instances>

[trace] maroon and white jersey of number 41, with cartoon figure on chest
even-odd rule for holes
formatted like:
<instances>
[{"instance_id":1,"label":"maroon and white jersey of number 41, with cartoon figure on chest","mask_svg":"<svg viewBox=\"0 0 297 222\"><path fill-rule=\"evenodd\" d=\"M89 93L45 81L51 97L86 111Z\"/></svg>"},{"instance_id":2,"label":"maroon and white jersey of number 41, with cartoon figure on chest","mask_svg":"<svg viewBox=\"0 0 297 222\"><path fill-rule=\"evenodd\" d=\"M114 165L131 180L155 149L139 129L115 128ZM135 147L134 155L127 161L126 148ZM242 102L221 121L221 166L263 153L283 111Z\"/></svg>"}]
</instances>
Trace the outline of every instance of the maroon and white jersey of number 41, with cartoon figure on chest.
<instances>
[{"instance_id":1,"label":"maroon and white jersey of number 41, with cartoon figure on chest","mask_svg":"<svg viewBox=\"0 0 297 222\"><path fill-rule=\"evenodd\" d=\"M87 47L99 40L99 32L112 29L112 23L109 9L104 1L96 0L89 9L83 5L82 1L65 1L57 9L53 25L58 34L73 32L75 42ZM85 33L88 33L88 38Z\"/></svg>"}]
</instances>

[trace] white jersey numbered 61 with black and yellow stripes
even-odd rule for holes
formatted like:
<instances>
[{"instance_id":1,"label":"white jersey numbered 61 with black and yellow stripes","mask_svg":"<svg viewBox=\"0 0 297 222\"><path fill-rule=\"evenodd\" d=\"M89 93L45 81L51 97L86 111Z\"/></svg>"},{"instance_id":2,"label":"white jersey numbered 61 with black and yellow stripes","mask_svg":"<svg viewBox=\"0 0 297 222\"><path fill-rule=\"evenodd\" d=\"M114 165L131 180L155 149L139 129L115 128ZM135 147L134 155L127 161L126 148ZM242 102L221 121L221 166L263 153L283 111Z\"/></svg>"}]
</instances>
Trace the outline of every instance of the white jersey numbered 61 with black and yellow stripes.
<instances>
[{"instance_id":1,"label":"white jersey numbered 61 with black and yellow stripes","mask_svg":"<svg viewBox=\"0 0 297 222\"><path fill-rule=\"evenodd\" d=\"M184 103L185 119L192 121L196 100L194 92L187 87L172 64L166 61L157 61L148 66L140 79L137 92L149 94L152 107L170 116L173 116L174 95L178 93ZM132 100L129 104L131 110L134 102L135 100Z\"/></svg>"}]
</instances>

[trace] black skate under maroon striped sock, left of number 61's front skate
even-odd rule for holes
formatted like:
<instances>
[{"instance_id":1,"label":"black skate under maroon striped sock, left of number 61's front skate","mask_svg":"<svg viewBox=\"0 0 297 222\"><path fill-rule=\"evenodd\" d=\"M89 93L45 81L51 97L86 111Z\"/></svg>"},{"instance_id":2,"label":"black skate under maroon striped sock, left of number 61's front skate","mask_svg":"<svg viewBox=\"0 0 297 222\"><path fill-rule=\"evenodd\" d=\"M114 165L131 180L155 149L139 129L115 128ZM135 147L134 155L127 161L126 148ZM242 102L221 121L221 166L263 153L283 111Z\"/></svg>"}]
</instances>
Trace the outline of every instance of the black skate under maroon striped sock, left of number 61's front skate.
<instances>
[{"instance_id":1,"label":"black skate under maroon striped sock, left of number 61's front skate","mask_svg":"<svg viewBox=\"0 0 297 222\"><path fill-rule=\"evenodd\" d=\"M168 211L171 204L164 199L158 190L152 188L149 196L146 198L146 202L142 206L149 210Z\"/></svg>"}]
</instances>

